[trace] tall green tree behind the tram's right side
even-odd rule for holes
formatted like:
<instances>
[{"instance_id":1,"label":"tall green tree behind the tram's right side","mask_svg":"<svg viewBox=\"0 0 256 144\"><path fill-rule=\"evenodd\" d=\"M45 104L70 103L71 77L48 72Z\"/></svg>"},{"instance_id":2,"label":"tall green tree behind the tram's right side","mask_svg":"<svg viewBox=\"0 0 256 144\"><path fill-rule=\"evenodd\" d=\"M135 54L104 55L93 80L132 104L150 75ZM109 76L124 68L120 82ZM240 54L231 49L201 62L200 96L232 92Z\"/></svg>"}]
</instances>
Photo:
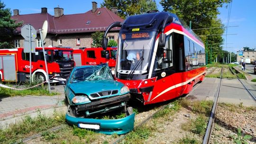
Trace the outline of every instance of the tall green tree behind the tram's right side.
<instances>
[{"instance_id":1,"label":"tall green tree behind the tram's right side","mask_svg":"<svg viewBox=\"0 0 256 144\"><path fill-rule=\"evenodd\" d=\"M212 50L216 51L216 53L212 53L213 58L217 56L218 51L222 50L221 45L223 43L221 35L224 33L224 27L221 20L217 18L219 14L218 8L230 1L231 0L161 0L160 4L163 6L164 11L176 14L186 24L192 21L192 29L219 27L194 30L194 32L201 37L204 44L206 44L206 40L208 44L217 44L214 45L214 48L212 47ZM208 55L210 54L208 48L206 52ZM210 57L208 60L210 60Z\"/></svg>"}]
</instances>

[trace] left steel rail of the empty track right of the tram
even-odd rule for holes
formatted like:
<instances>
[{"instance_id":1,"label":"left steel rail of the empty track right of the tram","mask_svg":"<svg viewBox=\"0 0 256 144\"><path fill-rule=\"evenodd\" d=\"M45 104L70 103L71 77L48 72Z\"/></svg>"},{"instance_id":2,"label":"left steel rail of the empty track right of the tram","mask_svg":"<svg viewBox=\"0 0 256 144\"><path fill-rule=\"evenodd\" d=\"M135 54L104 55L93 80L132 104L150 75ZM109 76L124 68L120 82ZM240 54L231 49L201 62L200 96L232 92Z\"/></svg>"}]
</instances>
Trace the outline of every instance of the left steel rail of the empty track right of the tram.
<instances>
[{"instance_id":1,"label":"left steel rail of the empty track right of the tram","mask_svg":"<svg viewBox=\"0 0 256 144\"><path fill-rule=\"evenodd\" d=\"M213 122L214 122L214 118L215 118L215 111L216 111L216 108L217 108L218 98L219 98L219 91L220 91L220 87L221 87L222 71L223 71L223 67L221 68L219 86L218 86L218 89L217 89L217 91L214 95L215 99L214 99L213 106L211 108L210 119L209 119L209 122L208 122L208 125L207 125L207 129L206 129L202 144L208 144L209 141L210 141L210 135L211 135L212 127L213 127Z\"/></svg>"}]
</instances>

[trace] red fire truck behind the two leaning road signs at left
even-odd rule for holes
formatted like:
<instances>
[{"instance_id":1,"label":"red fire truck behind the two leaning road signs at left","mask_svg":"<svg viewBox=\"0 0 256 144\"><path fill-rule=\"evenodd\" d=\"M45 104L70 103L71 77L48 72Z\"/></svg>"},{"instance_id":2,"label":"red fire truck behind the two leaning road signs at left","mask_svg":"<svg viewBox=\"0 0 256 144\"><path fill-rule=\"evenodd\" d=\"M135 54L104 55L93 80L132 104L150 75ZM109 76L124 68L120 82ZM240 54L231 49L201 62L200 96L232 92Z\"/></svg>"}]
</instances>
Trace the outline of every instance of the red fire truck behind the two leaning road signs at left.
<instances>
[{"instance_id":1,"label":"red fire truck behind the two leaning road signs at left","mask_svg":"<svg viewBox=\"0 0 256 144\"><path fill-rule=\"evenodd\" d=\"M55 76L50 82L64 83L66 77L74 67L73 49L60 47L46 47L46 61L49 78L46 76L42 47L37 47L31 54L31 73L33 79L46 81ZM23 48L0 49L0 80L1 81L29 81L29 53ZM33 81L32 79L32 81Z\"/></svg>"}]
</instances>

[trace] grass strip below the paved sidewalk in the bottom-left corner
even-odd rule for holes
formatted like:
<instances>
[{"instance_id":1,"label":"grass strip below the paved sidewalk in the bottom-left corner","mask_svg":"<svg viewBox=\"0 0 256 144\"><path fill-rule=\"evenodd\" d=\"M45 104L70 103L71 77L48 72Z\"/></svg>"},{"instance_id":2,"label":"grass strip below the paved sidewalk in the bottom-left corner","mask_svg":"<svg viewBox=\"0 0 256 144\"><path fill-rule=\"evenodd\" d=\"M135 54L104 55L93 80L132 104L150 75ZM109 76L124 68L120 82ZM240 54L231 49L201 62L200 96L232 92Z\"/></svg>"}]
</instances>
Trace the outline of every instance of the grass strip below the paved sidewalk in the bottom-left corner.
<instances>
[{"instance_id":1,"label":"grass strip below the paved sidewalk in the bottom-left corner","mask_svg":"<svg viewBox=\"0 0 256 144\"><path fill-rule=\"evenodd\" d=\"M45 131L51 127L65 123L64 114L55 113L53 117L46 117L38 111L37 117L26 116L22 122L10 125L9 128L0 130L0 144L20 143L23 138L38 132ZM44 133L47 138L54 135Z\"/></svg>"}]
</instances>

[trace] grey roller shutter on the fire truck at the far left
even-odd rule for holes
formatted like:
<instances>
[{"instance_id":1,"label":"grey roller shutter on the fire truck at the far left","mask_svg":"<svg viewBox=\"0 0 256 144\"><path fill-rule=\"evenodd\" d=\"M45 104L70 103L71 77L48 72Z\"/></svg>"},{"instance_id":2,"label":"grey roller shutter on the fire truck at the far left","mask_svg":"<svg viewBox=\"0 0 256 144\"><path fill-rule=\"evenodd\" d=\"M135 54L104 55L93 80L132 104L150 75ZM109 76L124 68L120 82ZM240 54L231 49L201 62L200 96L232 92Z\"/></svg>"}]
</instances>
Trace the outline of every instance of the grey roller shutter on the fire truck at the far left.
<instances>
[{"instance_id":1,"label":"grey roller shutter on the fire truck at the far left","mask_svg":"<svg viewBox=\"0 0 256 144\"><path fill-rule=\"evenodd\" d=\"M15 54L0 56L0 70L3 71L3 80L16 81Z\"/></svg>"}]
</instances>

